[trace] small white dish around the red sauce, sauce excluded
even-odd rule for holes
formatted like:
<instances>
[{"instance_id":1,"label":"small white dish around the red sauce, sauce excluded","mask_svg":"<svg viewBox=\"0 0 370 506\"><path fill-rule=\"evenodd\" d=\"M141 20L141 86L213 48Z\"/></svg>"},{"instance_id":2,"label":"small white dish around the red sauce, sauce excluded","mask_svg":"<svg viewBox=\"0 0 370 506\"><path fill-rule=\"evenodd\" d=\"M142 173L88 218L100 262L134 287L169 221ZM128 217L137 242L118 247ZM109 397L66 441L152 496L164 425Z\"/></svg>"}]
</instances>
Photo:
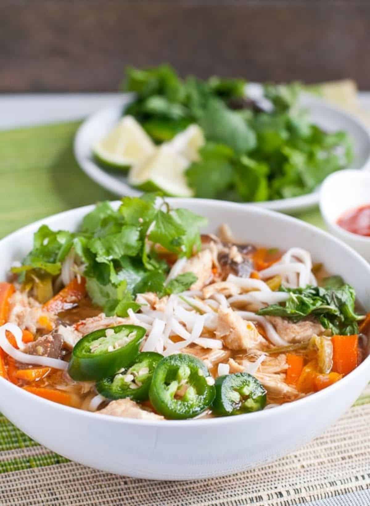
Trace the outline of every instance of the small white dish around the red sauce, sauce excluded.
<instances>
[{"instance_id":1,"label":"small white dish around the red sauce, sauce excluded","mask_svg":"<svg viewBox=\"0 0 370 506\"><path fill-rule=\"evenodd\" d=\"M337 225L346 210L370 204L370 173L346 170L331 174L322 183L319 204L329 231L370 262L370 237L352 234Z\"/></svg>"}]
</instances>

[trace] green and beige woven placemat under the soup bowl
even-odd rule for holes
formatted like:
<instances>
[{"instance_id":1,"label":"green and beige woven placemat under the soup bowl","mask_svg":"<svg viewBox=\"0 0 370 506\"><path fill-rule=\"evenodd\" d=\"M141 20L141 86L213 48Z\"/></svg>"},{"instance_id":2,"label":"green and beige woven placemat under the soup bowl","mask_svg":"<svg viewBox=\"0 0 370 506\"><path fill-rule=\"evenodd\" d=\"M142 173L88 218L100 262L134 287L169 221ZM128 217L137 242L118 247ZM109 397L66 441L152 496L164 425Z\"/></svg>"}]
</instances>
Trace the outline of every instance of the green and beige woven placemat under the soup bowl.
<instances>
[{"instance_id":1,"label":"green and beige woven placemat under the soup bowl","mask_svg":"<svg viewBox=\"0 0 370 506\"><path fill-rule=\"evenodd\" d=\"M78 124L0 132L1 236L50 214L114 198L76 165L72 140ZM298 217L322 226L317 209ZM370 389L366 389L336 425L287 457L224 478L158 482L119 477L70 462L32 441L0 415L0 504L370 504L369 423Z\"/></svg>"}]
</instances>

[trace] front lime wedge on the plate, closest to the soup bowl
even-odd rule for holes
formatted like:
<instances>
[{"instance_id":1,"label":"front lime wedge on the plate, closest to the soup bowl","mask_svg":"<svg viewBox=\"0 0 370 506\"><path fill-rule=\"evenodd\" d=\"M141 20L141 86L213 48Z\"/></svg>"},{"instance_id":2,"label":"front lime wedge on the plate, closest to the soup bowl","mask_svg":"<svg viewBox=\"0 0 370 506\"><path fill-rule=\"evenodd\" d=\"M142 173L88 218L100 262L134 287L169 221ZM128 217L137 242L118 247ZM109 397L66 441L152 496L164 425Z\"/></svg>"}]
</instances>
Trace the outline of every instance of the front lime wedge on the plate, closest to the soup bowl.
<instances>
[{"instance_id":1,"label":"front lime wedge on the plate, closest to the soup bowl","mask_svg":"<svg viewBox=\"0 0 370 506\"><path fill-rule=\"evenodd\" d=\"M189 160L162 144L142 165L133 165L128 173L128 183L143 191L162 191L174 197L191 197L184 171Z\"/></svg>"}]
</instances>

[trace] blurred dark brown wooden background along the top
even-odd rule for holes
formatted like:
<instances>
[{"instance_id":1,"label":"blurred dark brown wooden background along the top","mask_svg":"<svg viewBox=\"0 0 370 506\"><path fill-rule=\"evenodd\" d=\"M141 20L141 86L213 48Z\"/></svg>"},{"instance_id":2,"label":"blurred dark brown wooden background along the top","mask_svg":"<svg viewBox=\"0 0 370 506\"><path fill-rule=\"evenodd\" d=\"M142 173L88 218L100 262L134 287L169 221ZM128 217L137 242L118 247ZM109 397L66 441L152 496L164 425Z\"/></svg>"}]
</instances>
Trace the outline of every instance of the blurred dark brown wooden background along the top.
<instances>
[{"instance_id":1,"label":"blurred dark brown wooden background along the top","mask_svg":"<svg viewBox=\"0 0 370 506\"><path fill-rule=\"evenodd\" d=\"M162 61L370 90L369 50L370 0L0 0L0 92L115 91L125 65Z\"/></svg>"}]
</instances>

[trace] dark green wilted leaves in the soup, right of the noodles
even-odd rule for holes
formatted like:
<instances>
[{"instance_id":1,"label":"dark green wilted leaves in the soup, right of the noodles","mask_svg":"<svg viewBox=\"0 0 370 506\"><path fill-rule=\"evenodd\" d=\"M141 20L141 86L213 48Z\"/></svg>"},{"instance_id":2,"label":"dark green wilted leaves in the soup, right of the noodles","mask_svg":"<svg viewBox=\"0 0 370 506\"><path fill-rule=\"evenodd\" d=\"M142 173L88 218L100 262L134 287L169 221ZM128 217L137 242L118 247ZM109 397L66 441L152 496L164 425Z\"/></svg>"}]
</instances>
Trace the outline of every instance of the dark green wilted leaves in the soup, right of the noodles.
<instances>
[{"instance_id":1,"label":"dark green wilted leaves in the soup, right of the noodles","mask_svg":"<svg viewBox=\"0 0 370 506\"><path fill-rule=\"evenodd\" d=\"M332 278L333 279L333 278ZM337 279L338 281L338 279ZM338 287L323 288L306 286L305 288L285 288L281 291L290 294L282 304L272 304L260 309L257 314L281 316L299 321L307 316L314 316L324 328L333 334L349 335L358 333L357 321L362 317L355 312L355 292L348 284Z\"/></svg>"}]
</instances>

